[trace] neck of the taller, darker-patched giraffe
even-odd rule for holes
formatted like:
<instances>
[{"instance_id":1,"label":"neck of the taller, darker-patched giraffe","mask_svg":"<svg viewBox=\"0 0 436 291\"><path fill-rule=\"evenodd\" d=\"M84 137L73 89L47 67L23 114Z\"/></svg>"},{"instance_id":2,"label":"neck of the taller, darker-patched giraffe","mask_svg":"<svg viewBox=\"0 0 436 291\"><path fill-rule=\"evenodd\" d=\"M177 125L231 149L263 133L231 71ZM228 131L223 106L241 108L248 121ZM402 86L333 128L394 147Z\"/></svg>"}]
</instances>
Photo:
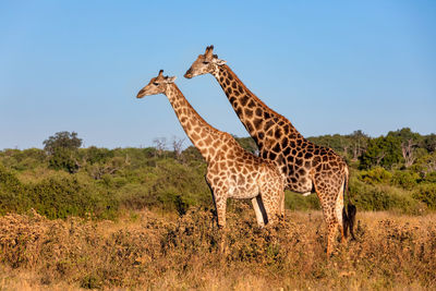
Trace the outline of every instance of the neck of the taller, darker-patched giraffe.
<instances>
[{"instance_id":1,"label":"neck of the taller, darker-patched giraffe","mask_svg":"<svg viewBox=\"0 0 436 291\"><path fill-rule=\"evenodd\" d=\"M261 150L267 146L268 137L274 137L280 132L278 129L282 129L282 134L290 140L303 137L287 118L257 98L227 64L219 65L213 75L221 85L234 112ZM279 136L275 137L279 138Z\"/></svg>"}]
</instances>

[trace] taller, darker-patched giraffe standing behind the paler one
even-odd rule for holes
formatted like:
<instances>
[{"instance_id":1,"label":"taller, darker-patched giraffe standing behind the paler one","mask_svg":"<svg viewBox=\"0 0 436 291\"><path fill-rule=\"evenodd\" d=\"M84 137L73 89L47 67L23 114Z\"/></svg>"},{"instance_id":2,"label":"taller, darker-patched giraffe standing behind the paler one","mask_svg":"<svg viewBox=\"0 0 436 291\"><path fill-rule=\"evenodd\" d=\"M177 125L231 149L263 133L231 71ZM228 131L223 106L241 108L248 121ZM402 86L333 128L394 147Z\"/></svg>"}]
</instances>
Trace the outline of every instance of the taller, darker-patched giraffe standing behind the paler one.
<instances>
[{"instance_id":1,"label":"taller, darker-patched giraffe standing behind the paler one","mask_svg":"<svg viewBox=\"0 0 436 291\"><path fill-rule=\"evenodd\" d=\"M348 190L349 169L332 149L305 140L292 123L267 107L226 64L206 48L184 76L211 74L226 93L239 119L253 137L259 156L276 162L286 180L286 189L308 195L316 192L328 228L327 256L332 252L337 230L346 241L347 216L343 199ZM355 214L355 211L354 211ZM350 229L352 233L352 229Z\"/></svg>"}]
</instances>

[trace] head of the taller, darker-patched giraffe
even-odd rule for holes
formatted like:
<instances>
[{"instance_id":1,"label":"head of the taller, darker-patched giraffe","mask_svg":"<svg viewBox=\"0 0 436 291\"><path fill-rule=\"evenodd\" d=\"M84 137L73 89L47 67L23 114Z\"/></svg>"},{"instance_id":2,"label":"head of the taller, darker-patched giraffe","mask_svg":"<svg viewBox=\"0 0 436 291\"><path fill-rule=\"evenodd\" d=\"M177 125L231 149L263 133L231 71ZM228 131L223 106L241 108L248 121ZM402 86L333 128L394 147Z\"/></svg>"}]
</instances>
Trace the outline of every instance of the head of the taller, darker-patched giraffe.
<instances>
[{"instance_id":1,"label":"head of the taller, darker-patched giraffe","mask_svg":"<svg viewBox=\"0 0 436 291\"><path fill-rule=\"evenodd\" d=\"M192 63L190 70L184 74L184 77L191 78L197 75L214 73L218 71L219 65L225 63L226 61L218 59L218 56L214 54L214 46L209 46L206 48L206 52L199 54Z\"/></svg>"}]
</instances>

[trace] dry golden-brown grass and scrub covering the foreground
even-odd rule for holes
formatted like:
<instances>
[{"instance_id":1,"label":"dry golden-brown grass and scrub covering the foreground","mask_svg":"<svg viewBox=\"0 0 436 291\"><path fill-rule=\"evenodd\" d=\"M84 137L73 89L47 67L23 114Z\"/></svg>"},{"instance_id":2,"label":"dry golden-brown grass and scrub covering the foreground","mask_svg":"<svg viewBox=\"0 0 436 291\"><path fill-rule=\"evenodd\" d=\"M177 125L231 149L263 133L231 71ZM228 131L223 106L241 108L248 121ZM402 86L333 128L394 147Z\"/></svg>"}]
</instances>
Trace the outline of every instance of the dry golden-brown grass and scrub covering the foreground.
<instances>
[{"instance_id":1,"label":"dry golden-brown grass and scrub covering the foreground","mask_svg":"<svg viewBox=\"0 0 436 291\"><path fill-rule=\"evenodd\" d=\"M436 215L358 220L358 241L327 262L317 211L288 211L281 226L258 229L238 204L223 235L209 209L117 222L11 214L0 217L0 290L436 289Z\"/></svg>"}]
</instances>

